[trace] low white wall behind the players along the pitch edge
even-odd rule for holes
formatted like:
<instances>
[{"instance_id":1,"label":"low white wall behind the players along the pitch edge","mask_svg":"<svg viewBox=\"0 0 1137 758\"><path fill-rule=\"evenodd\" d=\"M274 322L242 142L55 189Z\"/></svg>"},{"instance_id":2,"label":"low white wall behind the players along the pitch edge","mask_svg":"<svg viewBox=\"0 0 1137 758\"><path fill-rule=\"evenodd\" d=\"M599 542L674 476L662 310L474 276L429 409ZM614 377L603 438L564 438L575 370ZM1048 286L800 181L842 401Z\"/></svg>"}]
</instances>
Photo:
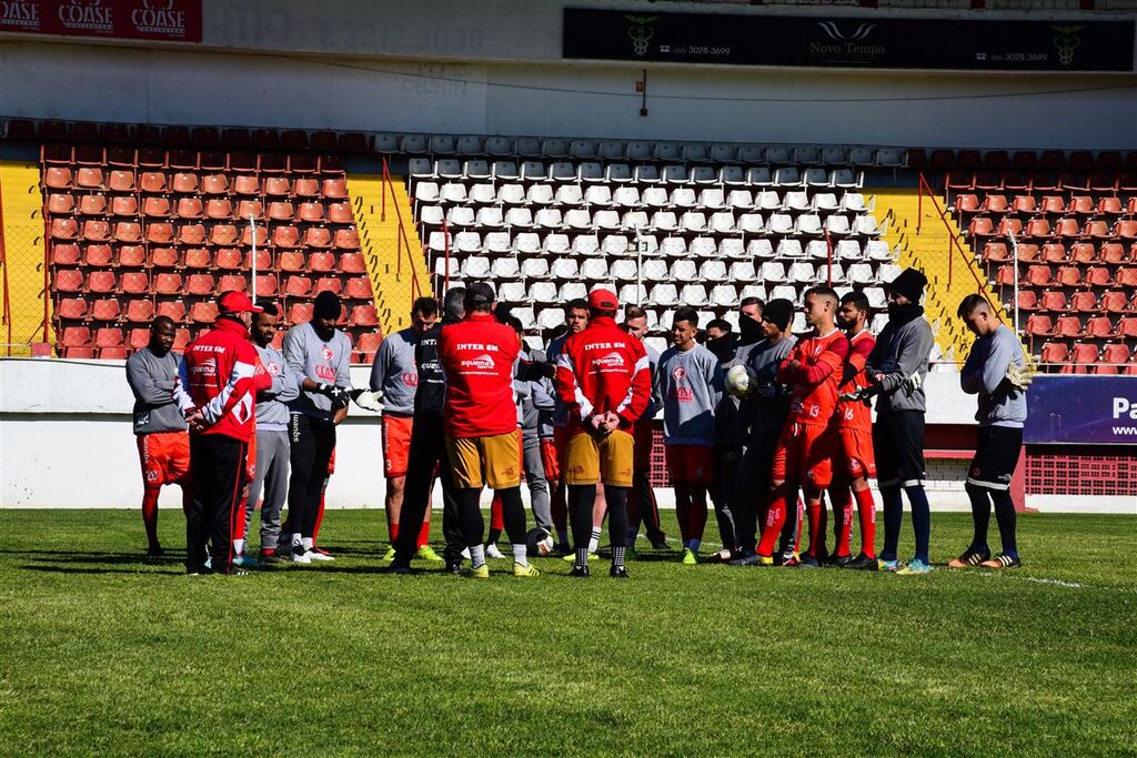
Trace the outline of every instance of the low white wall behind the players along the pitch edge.
<instances>
[{"instance_id":1,"label":"low white wall behind the players along the pitch edge","mask_svg":"<svg viewBox=\"0 0 1137 758\"><path fill-rule=\"evenodd\" d=\"M368 374L356 367L352 380L364 386ZM955 374L929 374L927 386L933 398L929 424L974 423L974 398L962 393ZM136 508L141 480L132 405L122 361L0 359L0 508ZM377 416L352 406L338 436L329 507L381 508ZM937 510L966 509L965 464L930 461L928 493ZM179 498L175 488L166 488L161 503L176 508ZM673 506L670 490L661 490L659 500ZM1028 506L1134 513L1131 503L1102 498L1031 495Z\"/></svg>"}]
</instances>

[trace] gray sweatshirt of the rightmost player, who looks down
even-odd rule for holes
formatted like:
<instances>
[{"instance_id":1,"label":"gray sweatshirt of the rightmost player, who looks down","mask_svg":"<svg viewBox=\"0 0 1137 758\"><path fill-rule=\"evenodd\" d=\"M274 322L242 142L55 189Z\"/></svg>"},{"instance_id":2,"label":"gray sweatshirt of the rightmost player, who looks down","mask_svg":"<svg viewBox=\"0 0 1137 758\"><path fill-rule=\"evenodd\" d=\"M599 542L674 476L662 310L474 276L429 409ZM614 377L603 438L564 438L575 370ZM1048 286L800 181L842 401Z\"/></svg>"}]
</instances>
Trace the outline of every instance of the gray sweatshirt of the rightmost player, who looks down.
<instances>
[{"instance_id":1,"label":"gray sweatshirt of the rightmost player, who looks down","mask_svg":"<svg viewBox=\"0 0 1137 758\"><path fill-rule=\"evenodd\" d=\"M960 386L968 394L979 395L976 420L980 426L1022 428L1027 420L1027 392L1006 378L1012 363L1019 368L1026 365L1022 343L1004 324L971 345L960 372Z\"/></svg>"}]
</instances>

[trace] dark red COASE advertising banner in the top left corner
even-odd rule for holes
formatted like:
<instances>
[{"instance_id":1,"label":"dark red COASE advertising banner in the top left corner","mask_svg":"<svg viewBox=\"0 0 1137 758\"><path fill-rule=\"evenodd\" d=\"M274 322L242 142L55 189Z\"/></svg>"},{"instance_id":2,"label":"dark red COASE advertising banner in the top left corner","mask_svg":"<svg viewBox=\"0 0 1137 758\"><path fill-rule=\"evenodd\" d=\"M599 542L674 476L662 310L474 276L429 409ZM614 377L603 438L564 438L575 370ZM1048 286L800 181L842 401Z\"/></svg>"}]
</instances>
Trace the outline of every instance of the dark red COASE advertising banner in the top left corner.
<instances>
[{"instance_id":1,"label":"dark red COASE advertising banner in the top left corner","mask_svg":"<svg viewBox=\"0 0 1137 758\"><path fill-rule=\"evenodd\" d=\"M201 0L0 0L0 32L201 41Z\"/></svg>"}]
</instances>

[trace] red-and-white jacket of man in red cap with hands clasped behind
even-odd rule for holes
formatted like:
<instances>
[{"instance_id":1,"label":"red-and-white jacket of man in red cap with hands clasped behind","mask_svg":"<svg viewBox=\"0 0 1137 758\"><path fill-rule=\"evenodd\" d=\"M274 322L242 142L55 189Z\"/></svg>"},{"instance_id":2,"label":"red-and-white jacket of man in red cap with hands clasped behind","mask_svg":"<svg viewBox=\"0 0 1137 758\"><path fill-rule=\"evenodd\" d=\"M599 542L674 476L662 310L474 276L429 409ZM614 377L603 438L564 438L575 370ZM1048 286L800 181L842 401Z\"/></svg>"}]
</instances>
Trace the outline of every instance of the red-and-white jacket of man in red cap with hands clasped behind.
<instances>
[{"instance_id":1,"label":"red-and-white jacket of man in red cap with hands clasped behind","mask_svg":"<svg viewBox=\"0 0 1137 758\"><path fill-rule=\"evenodd\" d=\"M652 397L644 345L612 318L594 318L557 357L557 394L568 408L570 433L580 431L589 416L609 410L620 416L620 428L630 430Z\"/></svg>"}]
</instances>

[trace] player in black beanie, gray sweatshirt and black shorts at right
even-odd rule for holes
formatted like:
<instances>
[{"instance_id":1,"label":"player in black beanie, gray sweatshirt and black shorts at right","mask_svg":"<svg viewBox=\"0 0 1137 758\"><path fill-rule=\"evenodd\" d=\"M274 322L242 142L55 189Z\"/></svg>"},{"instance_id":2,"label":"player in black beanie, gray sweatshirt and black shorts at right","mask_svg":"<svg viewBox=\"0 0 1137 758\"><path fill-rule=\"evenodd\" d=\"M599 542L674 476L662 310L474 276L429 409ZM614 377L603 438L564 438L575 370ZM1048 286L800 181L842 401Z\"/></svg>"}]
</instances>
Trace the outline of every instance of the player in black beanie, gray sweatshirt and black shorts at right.
<instances>
[{"instance_id":1,"label":"player in black beanie, gray sweatshirt and black shorts at right","mask_svg":"<svg viewBox=\"0 0 1137 758\"><path fill-rule=\"evenodd\" d=\"M872 447L877 456L877 482L885 501L885 548L878 565L901 574L927 574L931 513L924 494L923 428L928 409L923 380L928 356L935 343L931 326L923 317L920 299L928 278L915 268L905 268L888 288L888 324L877 336L869 356L868 373L873 385L858 397L878 395ZM904 502L912 507L915 555L903 566L896 557Z\"/></svg>"}]
</instances>

